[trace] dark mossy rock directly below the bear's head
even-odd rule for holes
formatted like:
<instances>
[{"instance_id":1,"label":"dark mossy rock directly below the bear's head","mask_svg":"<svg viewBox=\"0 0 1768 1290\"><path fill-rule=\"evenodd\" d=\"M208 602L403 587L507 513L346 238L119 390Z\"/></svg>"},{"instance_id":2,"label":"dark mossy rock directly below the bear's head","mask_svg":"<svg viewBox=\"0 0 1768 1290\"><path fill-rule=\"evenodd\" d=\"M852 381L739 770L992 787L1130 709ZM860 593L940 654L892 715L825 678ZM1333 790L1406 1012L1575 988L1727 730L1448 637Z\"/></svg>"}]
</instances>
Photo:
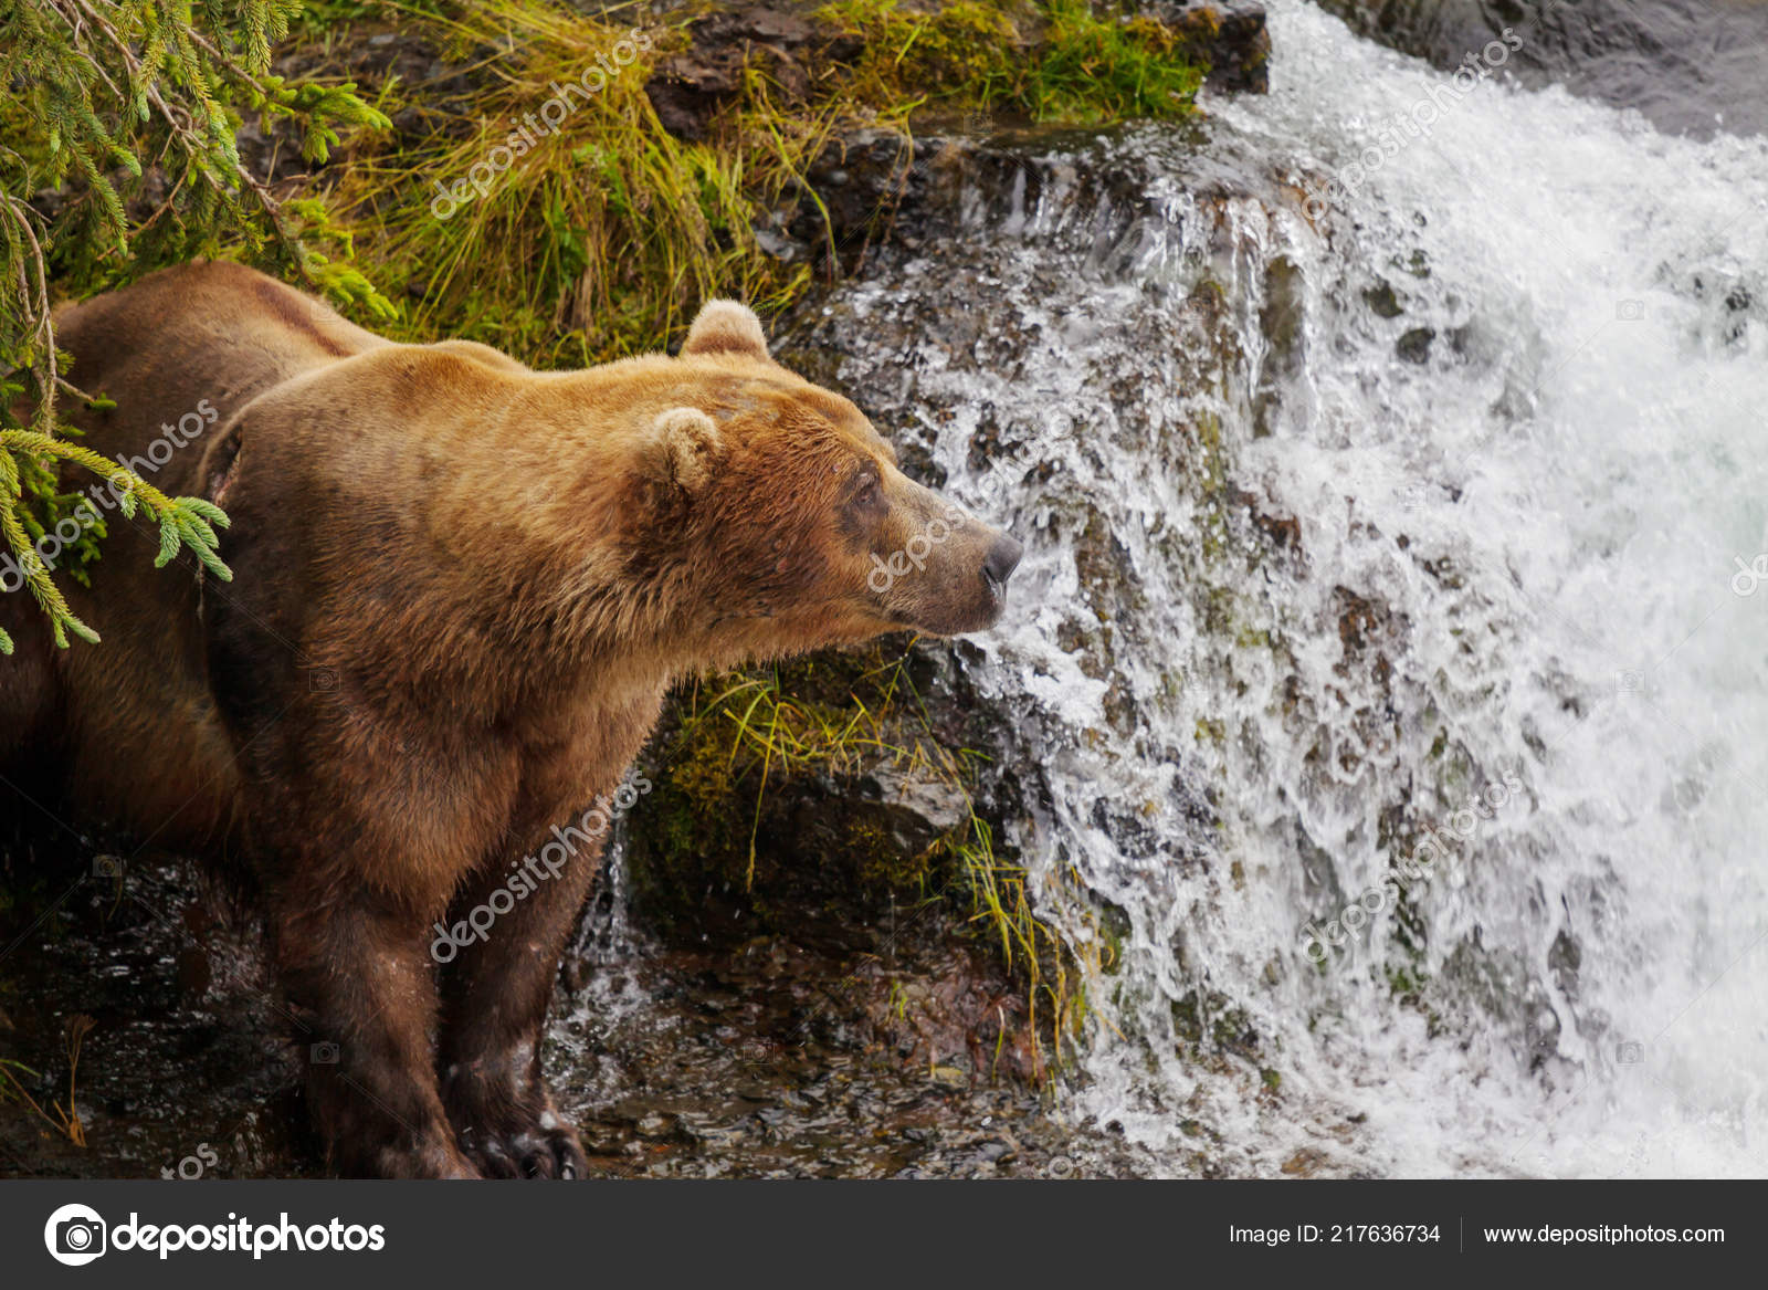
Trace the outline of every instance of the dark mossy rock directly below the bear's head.
<instances>
[{"instance_id":1,"label":"dark mossy rock directly below the bear's head","mask_svg":"<svg viewBox=\"0 0 1768 1290\"><path fill-rule=\"evenodd\" d=\"M834 651L684 692L628 832L638 917L665 934L705 936L711 920L746 936L806 911L872 920L948 887L941 842L971 807L907 708L912 672L882 649Z\"/></svg>"}]
</instances>

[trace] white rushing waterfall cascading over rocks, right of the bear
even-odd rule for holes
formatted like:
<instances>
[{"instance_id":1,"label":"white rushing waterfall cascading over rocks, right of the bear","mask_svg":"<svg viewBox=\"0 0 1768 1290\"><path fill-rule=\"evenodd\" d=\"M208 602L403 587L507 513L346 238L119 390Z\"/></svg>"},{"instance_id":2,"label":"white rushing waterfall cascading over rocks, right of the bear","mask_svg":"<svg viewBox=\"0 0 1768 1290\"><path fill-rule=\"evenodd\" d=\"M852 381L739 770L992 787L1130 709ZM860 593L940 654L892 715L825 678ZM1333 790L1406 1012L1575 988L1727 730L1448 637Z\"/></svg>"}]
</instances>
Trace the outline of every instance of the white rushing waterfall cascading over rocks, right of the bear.
<instances>
[{"instance_id":1,"label":"white rushing waterfall cascading over rocks, right of the bear","mask_svg":"<svg viewBox=\"0 0 1768 1290\"><path fill-rule=\"evenodd\" d=\"M1029 545L969 671L1119 956L1066 1110L1170 1171L1768 1173L1768 145L1271 32L1268 97L1033 145L812 329Z\"/></svg>"}]
</instances>

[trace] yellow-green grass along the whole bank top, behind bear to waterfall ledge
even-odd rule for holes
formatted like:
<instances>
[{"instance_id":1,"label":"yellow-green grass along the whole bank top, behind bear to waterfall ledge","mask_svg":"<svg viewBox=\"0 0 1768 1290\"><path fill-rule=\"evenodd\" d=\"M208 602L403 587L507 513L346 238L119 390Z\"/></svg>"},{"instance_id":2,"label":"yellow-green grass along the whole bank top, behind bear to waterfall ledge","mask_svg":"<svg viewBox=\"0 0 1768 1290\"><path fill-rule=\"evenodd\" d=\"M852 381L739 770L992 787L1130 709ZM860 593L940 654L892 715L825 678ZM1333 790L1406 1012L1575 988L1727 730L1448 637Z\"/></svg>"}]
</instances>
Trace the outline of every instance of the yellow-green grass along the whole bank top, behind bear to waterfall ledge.
<instances>
[{"instance_id":1,"label":"yellow-green grass along the whole bank top, behind bear to waterfall ledge","mask_svg":"<svg viewBox=\"0 0 1768 1290\"><path fill-rule=\"evenodd\" d=\"M359 143L332 195L341 227L385 294L405 292L398 334L483 340L539 366L665 347L714 294L764 315L803 296L812 269L771 258L755 228L794 200L820 207L806 168L843 127L886 126L907 140L926 106L1075 124L1179 117L1193 110L1200 81L1181 34L1153 19L1094 18L1078 0L960 0L937 14L896 0L840 0L813 21L829 35L865 39L854 65L819 67L808 97L790 99L757 55L709 136L684 142L663 129L644 85L658 58L688 46L688 34L681 25L649 28L647 53L589 103L578 99L557 133L514 157L484 196L442 219L431 209L435 182L453 184L484 163L553 97L553 83L608 58L629 27L545 0L447 5L447 16L430 5L370 12L387 9L403 30L430 35L472 67L477 88L456 104L470 124L461 131L456 120L417 147ZM394 85L377 106L431 111L430 94Z\"/></svg>"}]
</instances>

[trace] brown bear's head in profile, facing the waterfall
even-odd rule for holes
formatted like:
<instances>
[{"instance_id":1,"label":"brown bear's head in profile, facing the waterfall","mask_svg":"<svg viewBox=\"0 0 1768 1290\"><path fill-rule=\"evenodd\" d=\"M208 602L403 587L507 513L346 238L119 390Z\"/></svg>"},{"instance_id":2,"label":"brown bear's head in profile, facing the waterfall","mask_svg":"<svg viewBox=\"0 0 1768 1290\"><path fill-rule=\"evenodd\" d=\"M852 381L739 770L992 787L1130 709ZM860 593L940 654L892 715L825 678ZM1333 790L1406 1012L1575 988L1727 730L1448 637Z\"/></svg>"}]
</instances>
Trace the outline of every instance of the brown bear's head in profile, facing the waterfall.
<instances>
[{"instance_id":1,"label":"brown bear's head in profile, facing the waterfall","mask_svg":"<svg viewBox=\"0 0 1768 1290\"><path fill-rule=\"evenodd\" d=\"M700 660L999 619L1020 545L907 478L857 407L773 359L743 304L705 304L652 389L626 575L693 607L674 626Z\"/></svg>"}]
</instances>

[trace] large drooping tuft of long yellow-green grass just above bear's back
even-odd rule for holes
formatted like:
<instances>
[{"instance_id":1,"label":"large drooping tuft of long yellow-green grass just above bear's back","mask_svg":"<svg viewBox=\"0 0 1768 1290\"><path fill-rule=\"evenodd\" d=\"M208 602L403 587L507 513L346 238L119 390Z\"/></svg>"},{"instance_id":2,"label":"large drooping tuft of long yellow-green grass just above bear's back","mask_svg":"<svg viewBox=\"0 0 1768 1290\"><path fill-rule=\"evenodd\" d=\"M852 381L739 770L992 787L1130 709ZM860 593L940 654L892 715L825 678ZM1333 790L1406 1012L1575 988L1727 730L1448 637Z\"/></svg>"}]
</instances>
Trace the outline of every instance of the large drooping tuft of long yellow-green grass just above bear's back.
<instances>
[{"instance_id":1,"label":"large drooping tuft of long yellow-green grass just above bear's back","mask_svg":"<svg viewBox=\"0 0 1768 1290\"><path fill-rule=\"evenodd\" d=\"M553 99L548 87L612 58L628 28L516 0L412 25L453 57L479 57L483 88L467 104L469 133L438 133L415 150L368 150L336 193L377 280L408 288L394 333L483 340L539 366L585 366L656 349L707 296L769 308L803 285L808 271L760 253L751 219L815 145L817 122L727 149L675 140L644 94L654 55L610 76L587 103L573 94L576 108L557 131L530 126L534 143L486 193L438 218L435 184L458 191L474 166L483 175L488 159L516 152L509 136ZM658 50L679 42L679 32L665 32ZM424 87L394 87L389 106L423 108L423 96Z\"/></svg>"}]
</instances>

